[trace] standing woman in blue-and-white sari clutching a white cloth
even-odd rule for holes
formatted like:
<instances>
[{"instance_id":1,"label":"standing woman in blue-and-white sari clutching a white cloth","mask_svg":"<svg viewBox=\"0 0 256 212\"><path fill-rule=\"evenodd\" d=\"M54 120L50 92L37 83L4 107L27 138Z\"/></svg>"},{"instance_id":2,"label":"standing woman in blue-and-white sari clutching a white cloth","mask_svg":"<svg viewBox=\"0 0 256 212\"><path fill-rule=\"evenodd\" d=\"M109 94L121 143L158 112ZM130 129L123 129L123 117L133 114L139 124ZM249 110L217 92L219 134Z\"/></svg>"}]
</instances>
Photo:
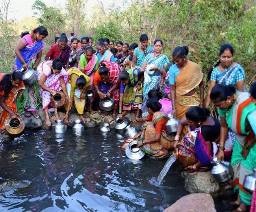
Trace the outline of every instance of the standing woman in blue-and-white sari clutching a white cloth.
<instances>
[{"instance_id":1,"label":"standing woman in blue-and-white sari clutching a white cloth","mask_svg":"<svg viewBox=\"0 0 256 212\"><path fill-rule=\"evenodd\" d=\"M162 86L165 79L164 68L168 65L169 59L166 55L161 54L162 49L162 40L156 39L154 41L154 53L148 54L145 57L145 61L142 65L142 70L147 73L148 77L148 79L144 80L143 84L143 103L141 107L142 116L148 115L146 107L146 102L148 101L148 92ZM148 75L148 73L151 75Z\"/></svg>"}]
</instances>

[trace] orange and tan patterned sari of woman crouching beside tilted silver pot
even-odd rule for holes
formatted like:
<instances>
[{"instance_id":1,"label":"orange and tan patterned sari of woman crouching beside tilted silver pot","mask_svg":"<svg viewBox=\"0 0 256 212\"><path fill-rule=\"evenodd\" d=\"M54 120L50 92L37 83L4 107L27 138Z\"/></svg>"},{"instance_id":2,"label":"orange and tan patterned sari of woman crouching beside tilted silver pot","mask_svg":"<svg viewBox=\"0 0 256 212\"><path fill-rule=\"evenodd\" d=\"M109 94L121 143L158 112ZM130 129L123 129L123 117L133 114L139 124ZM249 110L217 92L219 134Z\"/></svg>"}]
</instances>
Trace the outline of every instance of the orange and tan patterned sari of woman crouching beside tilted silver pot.
<instances>
[{"instance_id":1,"label":"orange and tan patterned sari of woman crouching beside tilted silver pot","mask_svg":"<svg viewBox=\"0 0 256 212\"><path fill-rule=\"evenodd\" d=\"M141 126L141 130L145 131L145 133L142 133L142 137L145 137L145 139L147 140L154 137L156 135L156 131L161 130L160 141L150 144L144 144L142 146L142 150L148 155L155 155L160 152L162 148L165 148L167 150L173 148L174 135L170 136L167 133L167 128L165 126L167 121L168 119L166 118L165 113L158 111L154 113L152 117L152 122L145 122L143 126ZM161 124L164 124L161 129L157 129L158 126L156 126L156 124L158 122L162 122Z\"/></svg>"}]
</instances>

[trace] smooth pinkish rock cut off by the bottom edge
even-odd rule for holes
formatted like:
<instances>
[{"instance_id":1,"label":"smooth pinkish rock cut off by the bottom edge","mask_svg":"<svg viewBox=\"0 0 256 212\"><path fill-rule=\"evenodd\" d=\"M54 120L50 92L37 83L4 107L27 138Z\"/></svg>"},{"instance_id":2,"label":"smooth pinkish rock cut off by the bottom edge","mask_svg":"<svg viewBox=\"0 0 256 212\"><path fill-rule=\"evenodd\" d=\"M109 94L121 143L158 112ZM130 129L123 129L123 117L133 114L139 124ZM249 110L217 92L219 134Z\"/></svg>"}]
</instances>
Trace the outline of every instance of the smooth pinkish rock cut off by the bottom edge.
<instances>
[{"instance_id":1,"label":"smooth pinkish rock cut off by the bottom edge","mask_svg":"<svg viewBox=\"0 0 256 212\"><path fill-rule=\"evenodd\" d=\"M164 212L216 212L214 201L210 194L189 194L181 197Z\"/></svg>"}]
</instances>

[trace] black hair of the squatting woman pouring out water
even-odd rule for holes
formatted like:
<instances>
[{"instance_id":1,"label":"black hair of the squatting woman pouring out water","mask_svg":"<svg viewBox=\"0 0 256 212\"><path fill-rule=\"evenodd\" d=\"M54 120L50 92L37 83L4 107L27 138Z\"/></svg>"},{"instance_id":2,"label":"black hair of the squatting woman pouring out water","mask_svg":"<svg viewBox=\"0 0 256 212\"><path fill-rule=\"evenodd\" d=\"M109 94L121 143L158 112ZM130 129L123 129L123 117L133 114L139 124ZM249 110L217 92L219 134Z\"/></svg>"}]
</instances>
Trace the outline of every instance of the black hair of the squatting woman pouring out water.
<instances>
[{"instance_id":1,"label":"black hair of the squatting woman pouring out water","mask_svg":"<svg viewBox=\"0 0 256 212\"><path fill-rule=\"evenodd\" d=\"M207 108L200 108L198 106L192 106L186 112L186 118L190 121L198 122L198 121L206 121L206 119L210 116L210 110Z\"/></svg>"}]
</instances>

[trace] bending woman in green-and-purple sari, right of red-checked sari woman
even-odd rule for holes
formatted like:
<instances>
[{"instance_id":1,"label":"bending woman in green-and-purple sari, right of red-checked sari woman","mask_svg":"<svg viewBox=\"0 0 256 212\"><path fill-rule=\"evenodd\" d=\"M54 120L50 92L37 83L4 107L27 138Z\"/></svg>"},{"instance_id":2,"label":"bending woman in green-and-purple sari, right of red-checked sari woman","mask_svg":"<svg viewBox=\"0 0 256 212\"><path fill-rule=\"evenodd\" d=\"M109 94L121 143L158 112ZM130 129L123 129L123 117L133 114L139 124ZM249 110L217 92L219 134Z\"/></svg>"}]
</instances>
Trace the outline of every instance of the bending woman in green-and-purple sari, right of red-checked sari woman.
<instances>
[{"instance_id":1,"label":"bending woman in green-and-purple sari, right of red-checked sari woman","mask_svg":"<svg viewBox=\"0 0 256 212\"><path fill-rule=\"evenodd\" d=\"M143 101L143 89L141 89L141 79L143 73L140 67L134 67L127 72L122 71L119 75L121 81L120 87L120 101L119 101L119 118L127 114L127 111L137 109L136 118L139 117L141 104ZM124 113L122 113L122 108Z\"/></svg>"}]
</instances>

